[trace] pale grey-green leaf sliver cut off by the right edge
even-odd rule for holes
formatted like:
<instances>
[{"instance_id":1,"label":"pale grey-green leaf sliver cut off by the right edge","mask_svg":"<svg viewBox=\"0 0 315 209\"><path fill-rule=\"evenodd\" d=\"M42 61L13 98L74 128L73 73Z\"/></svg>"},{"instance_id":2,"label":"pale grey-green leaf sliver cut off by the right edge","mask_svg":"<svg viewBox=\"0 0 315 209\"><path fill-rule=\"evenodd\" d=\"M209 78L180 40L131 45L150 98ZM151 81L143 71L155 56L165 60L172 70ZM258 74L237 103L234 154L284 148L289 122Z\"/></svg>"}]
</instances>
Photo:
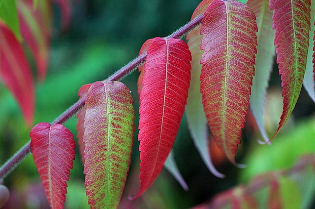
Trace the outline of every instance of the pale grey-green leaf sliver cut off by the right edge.
<instances>
[{"instance_id":1,"label":"pale grey-green leaf sliver cut off by the right edge","mask_svg":"<svg viewBox=\"0 0 315 209\"><path fill-rule=\"evenodd\" d=\"M308 93L309 97L315 102L315 47L314 47L314 32L315 32L315 3L311 4L310 13L310 31L309 31L309 47L307 54L307 63L305 69L305 76L303 80L303 87Z\"/></svg>"}]
</instances>

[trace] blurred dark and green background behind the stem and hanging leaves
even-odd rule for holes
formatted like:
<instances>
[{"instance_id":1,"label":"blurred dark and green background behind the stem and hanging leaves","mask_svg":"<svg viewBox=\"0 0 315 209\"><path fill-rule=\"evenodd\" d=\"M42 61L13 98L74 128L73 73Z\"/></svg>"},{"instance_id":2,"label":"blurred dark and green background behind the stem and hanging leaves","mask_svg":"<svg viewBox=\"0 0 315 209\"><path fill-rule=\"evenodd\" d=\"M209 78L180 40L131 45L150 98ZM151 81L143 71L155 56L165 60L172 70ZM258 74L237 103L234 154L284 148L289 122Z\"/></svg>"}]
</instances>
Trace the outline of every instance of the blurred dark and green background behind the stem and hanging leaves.
<instances>
[{"instance_id":1,"label":"blurred dark and green background behind the stem and hanging leaves","mask_svg":"<svg viewBox=\"0 0 315 209\"><path fill-rule=\"evenodd\" d=\"M52 39L48 76L36 85L35 123L53 121L78 100L77 92L85 83L103 80L115 70L138 55L146 39L172 33L188 22L200 1L73 1L72 21L69 31L60 33L60 13L54 7L54 35ZM132 91L134 107L138 111L137 76L134 72L122 81ZM271 77L267 102L268 131L274 132L281 111L280 80L276 65ZM15 100L2 85L0 87L0 163L29 140L29 127L24 121ZM138 186L138 115L133 158L128 184L121 208L187 208L209 200L214 194L247 182L260 172L289 168L299 156L315 151L314 104L302 90L294 115L272 146L258 145L259 135L253 122L246 124L237 161L247 163L238 169L225 159L217 161L217 169L226 174L225 179L214 177L206 168L194 148L186 127L185 117L177 136L174 152L189 191L184 191L173 177L163 170L152 187L139 199L127 201ZM76 135L76 118L65 126ZM78 152L76 152L78 153ZM20 202L8 208L45 208L45 197L40 178L31 155L12 172L5 185L12 198ZM83 168L80 156L74 160L68 183L66 208L89 208L85 196ZM310 201L311 202L311 201Z\"/></svg>"}]
</instances>

